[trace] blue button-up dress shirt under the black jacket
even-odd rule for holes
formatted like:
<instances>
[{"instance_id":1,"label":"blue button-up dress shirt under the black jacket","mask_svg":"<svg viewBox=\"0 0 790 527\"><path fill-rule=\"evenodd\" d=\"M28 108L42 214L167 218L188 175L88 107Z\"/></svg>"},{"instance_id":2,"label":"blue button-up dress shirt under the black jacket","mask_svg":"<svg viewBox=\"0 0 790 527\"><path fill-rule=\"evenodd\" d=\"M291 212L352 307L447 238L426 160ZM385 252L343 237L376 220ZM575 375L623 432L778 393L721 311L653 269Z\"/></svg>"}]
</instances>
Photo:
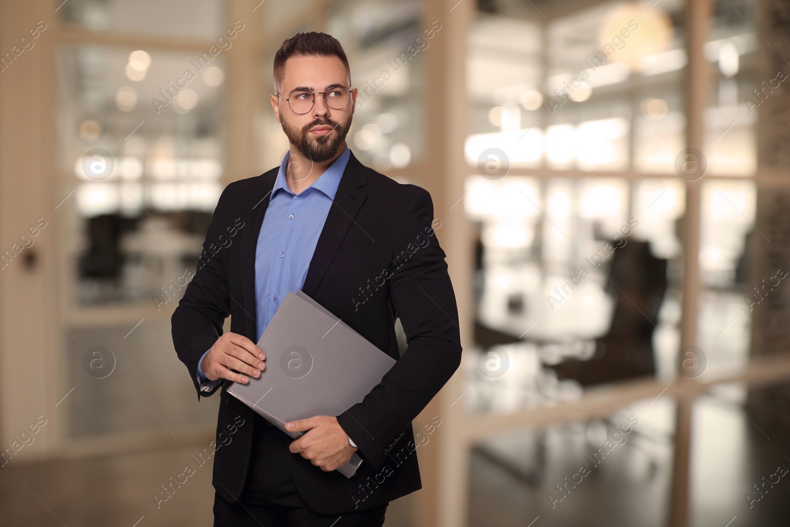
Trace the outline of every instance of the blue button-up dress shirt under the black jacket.
<instances>
[{"instance_id":1,"label":"blue button-up dress shirt under the black jacket","mask_svg":"<svg viewBox=\"0 0 790 527\"><path fill-rule=\"evenodd\" d=\"M299 194L288 188L285 179L291 152L280 164L255 248L256 343L286 293L297 292L304 285L318 236L324 228L349 156L351 151L347 147L312 185ZM210 391L221 381L209 381L203 375L201 364L207 353L198 362L201 391Z\"/></svg>"}]
</instances>

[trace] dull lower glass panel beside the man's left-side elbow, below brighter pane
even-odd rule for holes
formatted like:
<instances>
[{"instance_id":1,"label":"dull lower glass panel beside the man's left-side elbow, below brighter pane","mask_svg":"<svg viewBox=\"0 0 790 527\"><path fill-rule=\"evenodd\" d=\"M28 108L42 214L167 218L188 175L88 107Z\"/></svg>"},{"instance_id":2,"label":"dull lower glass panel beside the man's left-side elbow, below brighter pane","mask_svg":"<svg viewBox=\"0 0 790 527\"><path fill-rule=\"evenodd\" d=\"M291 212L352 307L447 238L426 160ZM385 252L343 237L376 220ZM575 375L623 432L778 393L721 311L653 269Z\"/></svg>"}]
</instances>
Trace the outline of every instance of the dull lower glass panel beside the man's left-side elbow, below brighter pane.
<instances>
[{"instance_id":1,"label":"dull lower glass panel beside the man's left-side elbow, below brighter pane","mask_svg":"<svg viewBox=\"0 0 790 527\"><path fill-rule=\"evenodd\" d=\"M171 344L170 320L72 328L66 336L63 401L66 437L97 439L156 435L178 439L179 431L216 422L219 397L196 404L194 387Z\"/></svg>"}]
</instances>

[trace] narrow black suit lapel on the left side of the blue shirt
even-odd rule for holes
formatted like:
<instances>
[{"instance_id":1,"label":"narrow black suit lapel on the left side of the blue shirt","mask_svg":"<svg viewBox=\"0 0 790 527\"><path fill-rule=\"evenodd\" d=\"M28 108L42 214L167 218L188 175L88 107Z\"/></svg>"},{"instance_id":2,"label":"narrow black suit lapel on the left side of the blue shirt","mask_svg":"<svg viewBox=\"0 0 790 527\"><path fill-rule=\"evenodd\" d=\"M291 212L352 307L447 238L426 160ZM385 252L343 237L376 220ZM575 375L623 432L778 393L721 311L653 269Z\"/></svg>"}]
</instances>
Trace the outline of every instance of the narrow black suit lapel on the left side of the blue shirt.
<instances>
[{"instance_id":1,"label":"narrow black suit lapel on the left side of the blue shirt","mask_svg":"<svg viewBox=\"0 0 790 527\"><path fill-rule=\"evenodd\" d=\"M255 309L255 250L258 247L258 234L261 232L263 216L266 208L269 207L269 198L272 195L274 182L277 179L279 167L261 175L261 186L254 190L250 206L252 209L246 214L249 220L248 225L242 229L242 307L245 311L244 327L246 337L250 341L256 342L256 326L258 326L258 314Z\"/></svg>"}]
</instances>

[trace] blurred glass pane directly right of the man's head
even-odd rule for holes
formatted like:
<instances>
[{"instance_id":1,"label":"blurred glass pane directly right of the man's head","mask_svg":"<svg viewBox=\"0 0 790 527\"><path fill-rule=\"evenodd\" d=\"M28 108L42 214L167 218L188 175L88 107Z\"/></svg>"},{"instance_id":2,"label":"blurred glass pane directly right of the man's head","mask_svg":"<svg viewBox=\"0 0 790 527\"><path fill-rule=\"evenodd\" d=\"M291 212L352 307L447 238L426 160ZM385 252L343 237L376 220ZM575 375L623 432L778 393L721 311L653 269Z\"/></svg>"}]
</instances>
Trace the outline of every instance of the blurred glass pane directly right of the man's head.
<instances>
[{"instance_id":1,"label":"blurred glass pane directly right of the man's head","mask_svg":"<svg viewBox=\"0 0 790 527\"><path fill-rule=\"evenodd\" d=\"M326 30L343 43L359 90L348 145L376 170L412 166L423 156L424 60L442 23L422 2L333 2Z\"/></svg>"}]
</instances>

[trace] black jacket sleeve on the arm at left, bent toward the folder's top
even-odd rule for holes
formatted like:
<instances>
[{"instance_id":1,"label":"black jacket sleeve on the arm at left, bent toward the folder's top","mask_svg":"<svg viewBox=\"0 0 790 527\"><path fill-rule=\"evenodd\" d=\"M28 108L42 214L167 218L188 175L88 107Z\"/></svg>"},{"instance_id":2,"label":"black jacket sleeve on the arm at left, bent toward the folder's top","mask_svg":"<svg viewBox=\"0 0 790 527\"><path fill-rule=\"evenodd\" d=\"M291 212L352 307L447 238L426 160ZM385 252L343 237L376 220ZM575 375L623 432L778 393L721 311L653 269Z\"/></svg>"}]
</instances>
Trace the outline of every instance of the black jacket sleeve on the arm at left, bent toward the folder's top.
<instances>
[{"instance_id":1,"label":"black jacket sleeve on the arm at left, bent toward the folder's top","mask_svg":"<svg viewBox=\"0 0 790 527\"><path fill-rule=\"evenodd\" d=\"M230 315L228 277L223 265L227 249L222 246L222 240L228 238L229 228L236 227L233 220L228 220L231 216L228 211L231 185L225 187L216 204L198 259L198 270L186 286L186 292L171 317L175 352L189 371L198 392L198 401L201 396L212 395L221 386L218 383L212 390L201 391L198 363L206 350L222 335L225 318Z\"/></svg>"}]
</instances>

